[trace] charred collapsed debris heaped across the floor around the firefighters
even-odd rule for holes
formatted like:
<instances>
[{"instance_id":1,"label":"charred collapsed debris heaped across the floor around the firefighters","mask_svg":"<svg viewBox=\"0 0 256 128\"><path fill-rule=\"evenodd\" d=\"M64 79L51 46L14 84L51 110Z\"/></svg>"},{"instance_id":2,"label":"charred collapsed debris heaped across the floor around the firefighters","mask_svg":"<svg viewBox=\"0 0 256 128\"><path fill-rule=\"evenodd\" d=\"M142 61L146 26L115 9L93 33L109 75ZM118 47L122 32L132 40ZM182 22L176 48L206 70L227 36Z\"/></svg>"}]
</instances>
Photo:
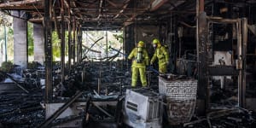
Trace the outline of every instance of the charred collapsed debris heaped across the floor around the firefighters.
<instances>
[{"instance_id":1,"label":"charred collapsed debris heaped across the floor around the firefighters","mask_svg":"<svg viewBox=\"0 0 256 128\"><path fill-rule=\"evenodd\" d=\"M56 67L55 71L57 70L58 68ZM29 90L28 94L24 92L3 92L0 94L0 106L2 108L0 112L0 122L5 127L36 127L42 123L43 124L41 126L43 127L44 125L60 126L63 124L67 125L73 121L80 122L79 125L84 125L86 127L102 125L105 125L106 127L117 127L118 125L127 126L128 123L125 124L124 119L125 113L123 113L126 107L123 106L123 102L127 100L124 96L127 96L126 89L130 88L131 83L130 73L127 73L127 71L129 71L129 69L126 69L125 66L120 65L119 62L96 61L82 63L73 68L73 71L67 75L67 79L63 84L58 84L60 77L58 77L59 74L55 72L55 101L67 101L65 99L70 99L69 97L73 96L73 94L75 94L74 92L82 90L79 93L80 95L76 96L76 98L78 98L78 100L84 101L85 104L77 106L77 109L79 109L79 114L77 115L57 118L61 113L61 109L58 109L58 114L53 114L55 115L54 118L48 118L46 120L43 102L44 94L42 94L42 92L44 92L44 88L42 89L44 84L40 84L40 79L44 79L44 71L42 71L41 68L33 72L30 70L32 73L25 72L26 74L29 74L25 76L32 76L31 74L35 74L35 78L38 82L30 83L30 85L23 83L24 87ZM151 77L156 76L152 75ZM175 79L186 79L184 76L174 75L160 76L160 78L169 79L169 82L173 82ZM154 85L157 84L157 82L157 80L150 81L152 84L150 86L151 89L147 91L158 93L158 87L155 87ZM160 88L160 94L164 92L162 89L163 88ZM216 90L216 92L219 92L217 89L212 89ZM169 92L170 90L167 91ZM219 94L221 93L215 93L215 96L218 96ZM234 94L236 94L236 92L234 92ZM232 95L228 95L227 98L229 96ZM72 104L75 101L77 100L73 100L68 104ZM98 104L96 102L102 103ZM110 105L109 102L114 103ZM217 103L218 102L221 101L217 101ZM166 107L168 106L168 102L160 102L160 105L163 107L162 125L163 127L166 127L167 125L170 125L168 123L168 115L166 115ZM68 106L69 105L63 108L62 111L65 110ZM130 103L130 106L131 108L136 108L132 103ZM175 110L178 110L178 108ZM160 115L158 117L161 118ZM221 119L221 121L219 121L219 119ZM230 126L253 127L255 125L254 119L255 113L245 109L224 108L224 110L220 109L218 111L212 111L211 113L208 113L206 117L200 117L196 114L193 114L191 122L184 123L183 125L179 126L196 128Z\"/></svg>"}]
</instances>

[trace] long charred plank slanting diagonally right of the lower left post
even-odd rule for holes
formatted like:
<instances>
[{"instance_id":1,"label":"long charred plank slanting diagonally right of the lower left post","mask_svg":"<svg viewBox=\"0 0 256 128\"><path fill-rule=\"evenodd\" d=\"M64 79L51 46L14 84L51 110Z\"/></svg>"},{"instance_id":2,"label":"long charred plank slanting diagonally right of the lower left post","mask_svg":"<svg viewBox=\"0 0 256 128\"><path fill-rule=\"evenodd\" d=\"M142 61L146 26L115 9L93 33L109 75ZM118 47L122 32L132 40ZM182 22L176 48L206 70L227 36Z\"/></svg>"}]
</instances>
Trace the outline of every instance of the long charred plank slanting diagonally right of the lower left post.
<instances>
[{"instance_id":1,"label":"long charred plank slanting diagonally right of the lower left post","mask_svg":"<svg viewBox=\"0 0 256 128\"><path fill-rule=\"evenodd\" d=\"M78 91L72 98L69 99L65 104L61 106L58 110L55 111L48 119L44 120L42 124L38 126L38 128L47 127L54 119L56 119L61 113L63 113L76 99L79 98L83 94L82 91Z\"/></svg>"}]
</instances>

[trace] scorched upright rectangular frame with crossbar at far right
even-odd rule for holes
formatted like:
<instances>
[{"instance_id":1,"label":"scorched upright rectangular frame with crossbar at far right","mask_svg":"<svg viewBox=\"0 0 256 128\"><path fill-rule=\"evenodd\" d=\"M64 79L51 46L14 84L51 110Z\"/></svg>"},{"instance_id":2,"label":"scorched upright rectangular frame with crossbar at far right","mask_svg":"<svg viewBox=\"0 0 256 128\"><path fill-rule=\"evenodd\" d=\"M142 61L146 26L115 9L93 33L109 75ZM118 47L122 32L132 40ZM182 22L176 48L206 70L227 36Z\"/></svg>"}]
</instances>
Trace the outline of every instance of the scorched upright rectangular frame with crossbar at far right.
<instances>
[{"instance_id":1,"label":"scorched upright rectangular frame with crossbar at far right","mask_svg":"<svg viewBox=\"0 0 256 128\"><path fill-rule=\"evenodd\" d=\"M241 108L245 107L246 102L246 53L247 53L247 19L221 19L219 17L207 17L206 15L203 16L204 23L206 23L206 38L201 40L200 49L204 49L204 60L201 60L199 63L199 68L207 67L204 71L205 80L207 84L207 109L209 109L209 102L210 102L210 84L209 84L209 77L210 76L220 76L220 75L232 75L238 76L238 106ZM210 41L208 38L207 30L211 23L217 24L233 24L236 25L236 38L237 38L237 60L236 60L236 67L230 66L217 66L217 67L210 67L209 66L209 59L208 55L212 55L211 46L209 46ZM200 57L201 58L201 57ZM203 69L201 69L203 70ZM221 72L220 72L221 71ZM201 78L201 76L199 77Z\"/></svg>"}]
</instances>

